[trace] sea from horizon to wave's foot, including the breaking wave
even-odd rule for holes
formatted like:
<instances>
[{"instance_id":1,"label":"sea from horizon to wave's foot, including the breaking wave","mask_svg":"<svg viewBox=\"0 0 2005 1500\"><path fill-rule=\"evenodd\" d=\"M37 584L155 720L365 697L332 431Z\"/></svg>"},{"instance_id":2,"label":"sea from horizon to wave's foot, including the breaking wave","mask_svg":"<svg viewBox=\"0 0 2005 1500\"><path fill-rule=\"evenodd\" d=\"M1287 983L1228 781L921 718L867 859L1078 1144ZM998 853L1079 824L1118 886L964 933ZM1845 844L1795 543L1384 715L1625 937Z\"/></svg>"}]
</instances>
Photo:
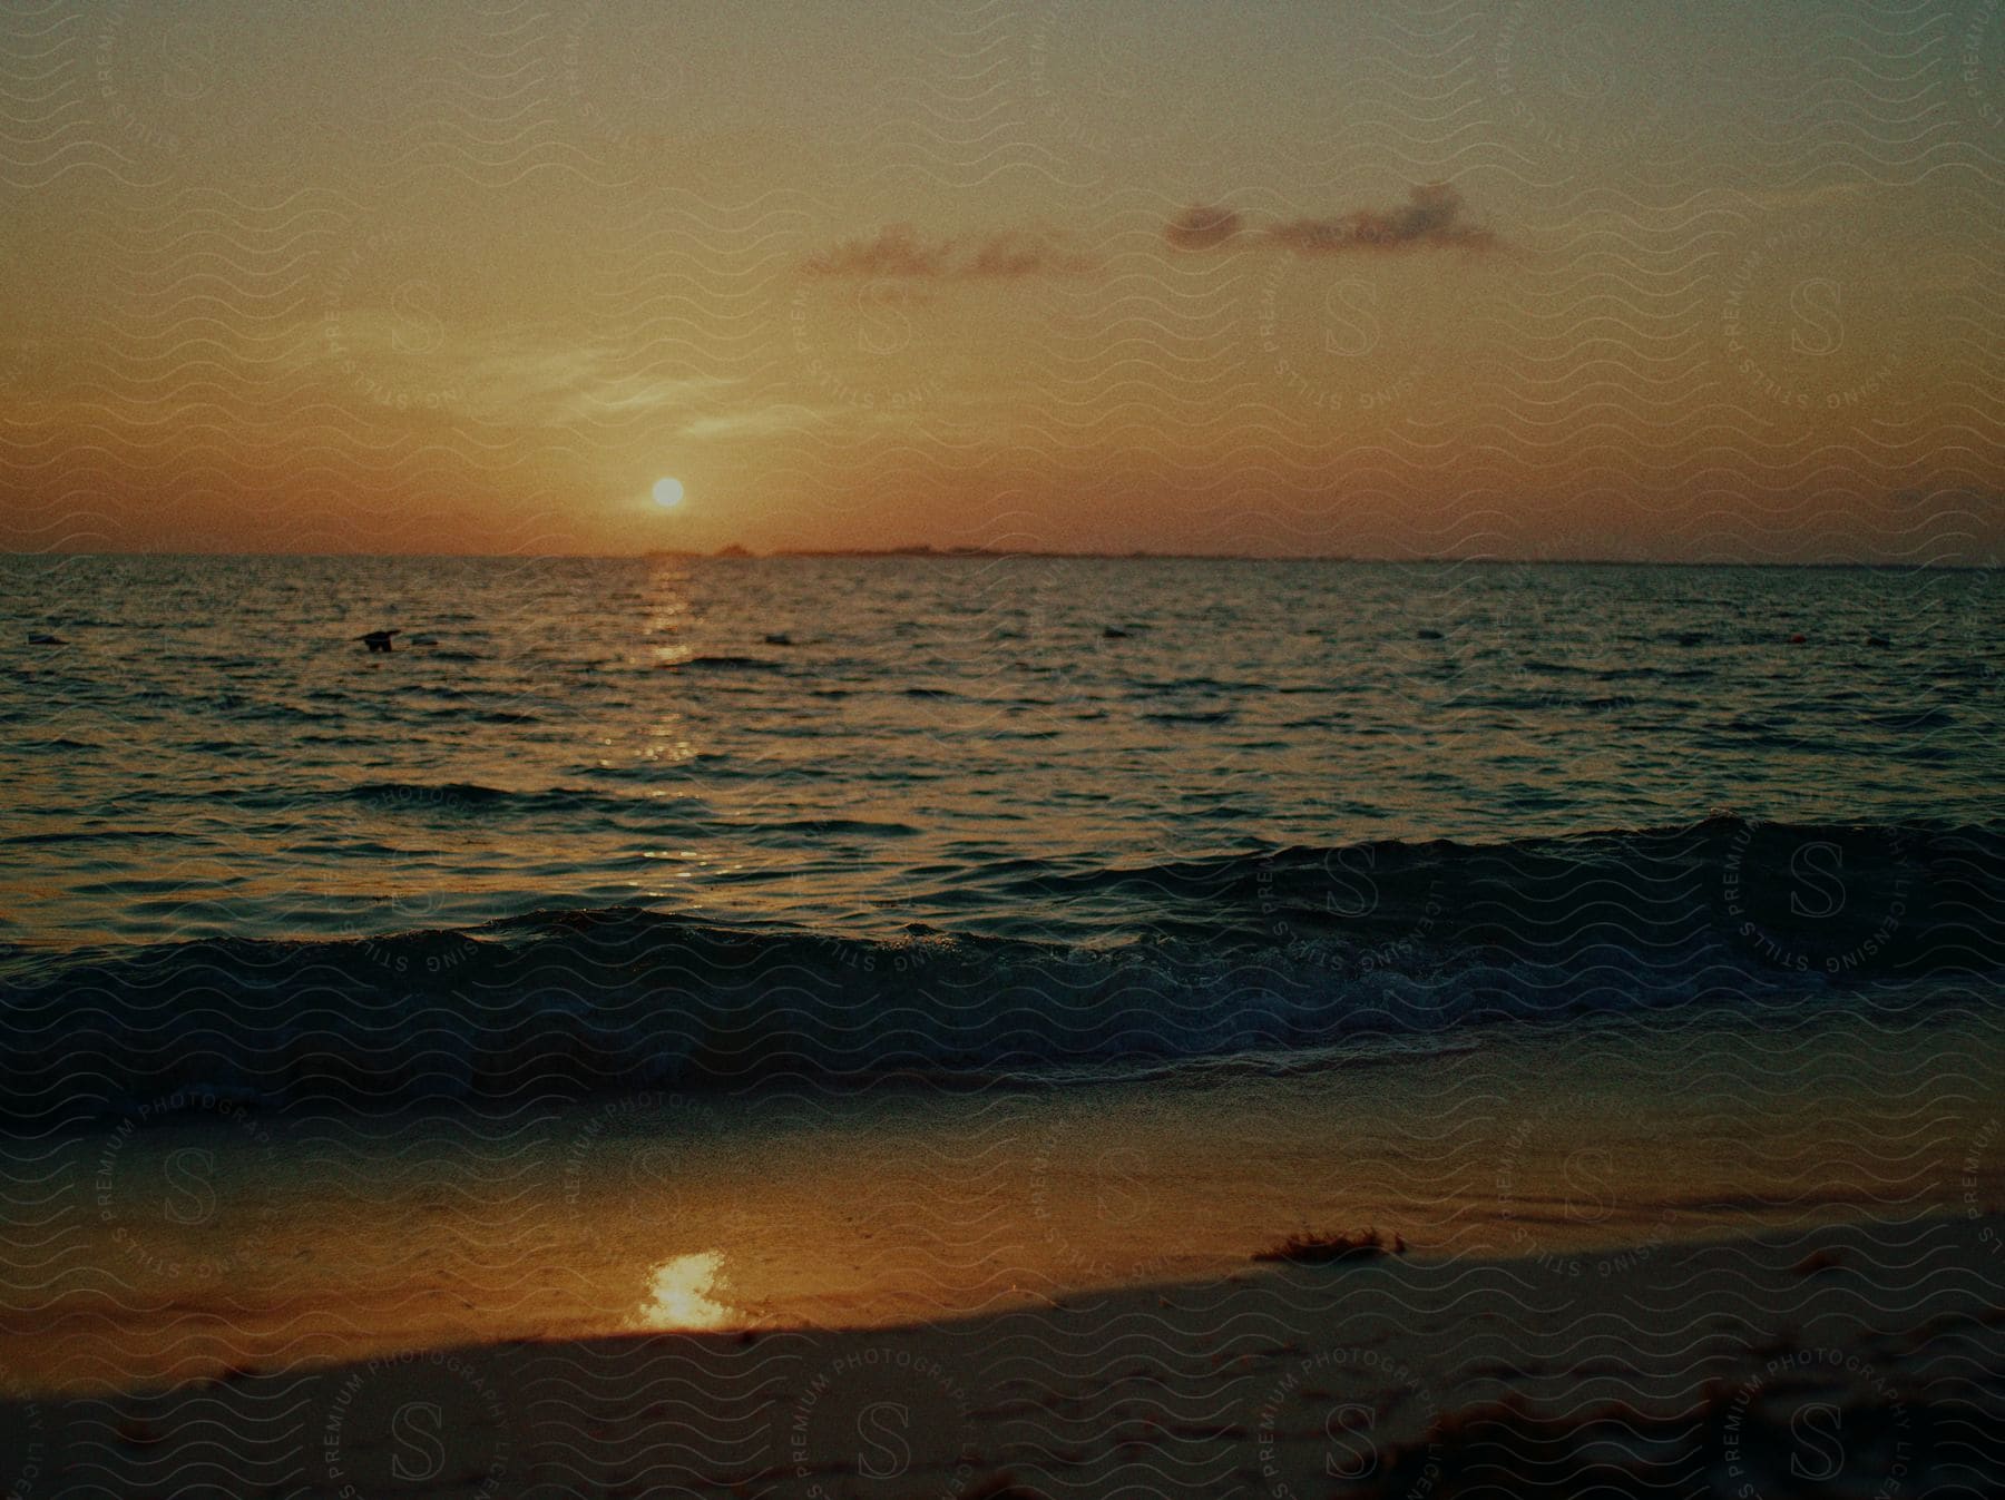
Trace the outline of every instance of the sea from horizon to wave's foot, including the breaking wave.
<instances>
[{"instance_id":1,"label":"sea from horizon to wave's foot, including the breaking wave","mask_svg":"<svg viewBox=\"0 0 2005 1500\"><path fill-rule=\"evenodd\" d=\"M1993 1007L2001 626L1935 570L0 559L0 1093Z\"/></svg>"}]
</instances>

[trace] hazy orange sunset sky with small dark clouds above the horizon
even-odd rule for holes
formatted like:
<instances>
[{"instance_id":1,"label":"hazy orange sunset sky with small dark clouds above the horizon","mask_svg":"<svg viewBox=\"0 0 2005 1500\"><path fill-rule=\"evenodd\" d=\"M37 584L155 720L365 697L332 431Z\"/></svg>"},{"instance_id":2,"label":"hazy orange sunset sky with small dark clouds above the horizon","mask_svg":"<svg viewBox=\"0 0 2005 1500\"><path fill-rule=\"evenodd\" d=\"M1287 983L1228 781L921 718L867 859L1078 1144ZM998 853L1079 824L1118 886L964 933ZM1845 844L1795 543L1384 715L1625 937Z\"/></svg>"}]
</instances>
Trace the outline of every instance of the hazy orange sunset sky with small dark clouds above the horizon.
<instances>
[{"instance_id":1,"label":"hazy orange sunset sky with small dark clouds above the horizon","mask_svg":"<svg viewBox=\"0 0 2005 1500\"><path fill-rule=\"evenodd\" d=\"M0 28L0 547L2005 549L1997 0Z\"/></svg>"}]
</instances>

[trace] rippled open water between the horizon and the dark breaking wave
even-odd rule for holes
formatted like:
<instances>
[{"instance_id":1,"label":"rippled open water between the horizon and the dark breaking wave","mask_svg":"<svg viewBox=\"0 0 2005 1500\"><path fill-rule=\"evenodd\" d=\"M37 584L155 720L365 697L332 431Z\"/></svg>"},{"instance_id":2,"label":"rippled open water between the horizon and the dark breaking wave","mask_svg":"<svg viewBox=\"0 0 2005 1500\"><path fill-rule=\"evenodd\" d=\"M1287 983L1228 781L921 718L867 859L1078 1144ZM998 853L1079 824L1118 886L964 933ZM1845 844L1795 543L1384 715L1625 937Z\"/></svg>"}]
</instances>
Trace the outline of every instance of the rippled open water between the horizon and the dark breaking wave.
<instances>
[{"instance_id":1,"label":"rippled open water between the horizon and the dark breaking wave","mask_svg":"<svg viewBox=\"0 0 2005 1500\"><path fill-rule=\"evenodd\" d=\"M1137 920L1107 872L1283 846L1999 810L2005 596L1981 572L14 557L0 580L18 945L628 904L1077 939ZM371 656L375 628L399 650Z\"/></svg>"}]
</instances>

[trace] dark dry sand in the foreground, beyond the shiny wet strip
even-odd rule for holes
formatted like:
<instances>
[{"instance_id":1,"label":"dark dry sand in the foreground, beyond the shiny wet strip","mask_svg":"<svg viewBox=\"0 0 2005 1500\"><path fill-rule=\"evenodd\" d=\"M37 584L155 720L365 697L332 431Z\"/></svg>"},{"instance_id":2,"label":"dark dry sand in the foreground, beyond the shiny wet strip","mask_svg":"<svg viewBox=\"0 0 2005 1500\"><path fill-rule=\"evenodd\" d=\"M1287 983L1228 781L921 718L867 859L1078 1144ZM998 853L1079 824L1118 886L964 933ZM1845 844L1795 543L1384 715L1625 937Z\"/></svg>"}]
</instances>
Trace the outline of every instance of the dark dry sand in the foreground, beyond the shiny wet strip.
<instances>
[{"instance_id":1,"label":"dark dry sand in the foreground, beyond the shiny wet strip","mask_svg":"<svg viewBox=\"0 0 2005 1500\"><path fill-rule=\"evenodd\" d=\"M928 1328L413 1352L14 1404L4 1490L1903 1496L2005 1484L2005 1219L1247 1267Z\"/></svg>"}]
</instances>

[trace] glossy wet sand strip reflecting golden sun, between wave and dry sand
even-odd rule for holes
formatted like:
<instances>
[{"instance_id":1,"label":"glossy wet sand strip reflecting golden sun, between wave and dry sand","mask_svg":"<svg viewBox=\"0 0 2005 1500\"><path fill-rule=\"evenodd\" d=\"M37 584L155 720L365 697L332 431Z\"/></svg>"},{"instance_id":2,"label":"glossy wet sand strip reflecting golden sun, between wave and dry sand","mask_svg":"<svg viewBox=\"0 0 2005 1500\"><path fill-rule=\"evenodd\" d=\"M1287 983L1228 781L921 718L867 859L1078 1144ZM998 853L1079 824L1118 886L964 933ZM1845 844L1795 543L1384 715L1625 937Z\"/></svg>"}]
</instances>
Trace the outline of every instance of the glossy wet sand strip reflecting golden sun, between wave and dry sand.
<instances>
[{"instance_id":1,"label":"glossy wet sand strip reflecting golden sun, between wave and dry sand","mask_svg":"<svg viewBox=\"0 0 2005 1500\"><path fill-rule=\"evenodd\" d=\"M1089 1087L622 1097L483 1119L211 1101L14 1143L0 1390L644 1330L888 1328L1205 1283L1297 1229L1558 1283L1704 1237L2005 1207L2005 1041L1823 1007Z\"/></svg>"}]
</instances>

